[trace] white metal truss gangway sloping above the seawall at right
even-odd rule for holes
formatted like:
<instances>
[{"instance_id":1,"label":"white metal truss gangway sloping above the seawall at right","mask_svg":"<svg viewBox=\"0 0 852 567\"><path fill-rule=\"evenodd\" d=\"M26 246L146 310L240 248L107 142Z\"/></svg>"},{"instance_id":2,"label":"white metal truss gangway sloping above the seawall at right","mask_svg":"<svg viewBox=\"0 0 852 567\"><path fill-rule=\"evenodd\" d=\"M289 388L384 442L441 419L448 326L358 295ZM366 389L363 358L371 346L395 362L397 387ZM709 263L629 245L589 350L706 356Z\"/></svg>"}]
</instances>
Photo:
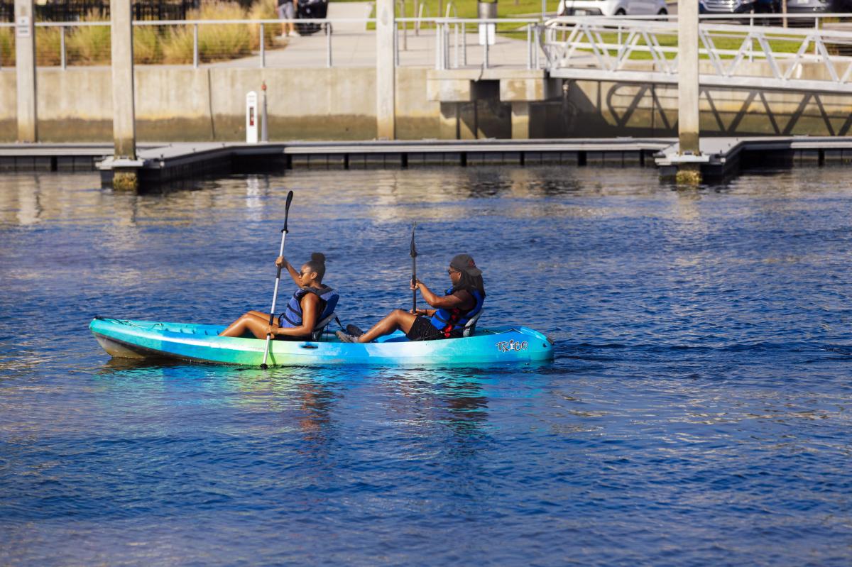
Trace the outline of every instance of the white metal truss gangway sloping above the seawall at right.
<instances>
[{"instance_id":1,"label":"white metal truss gangway sloping above the seawall at right","mask_svg":"<svg viewBox=\"0 0 852 567\"><path fill-rule=\"evenodd\" d=\"M852 22L838 21L846 14L820 15L787 14L813 26L787 28L759 25L777 20L775 14L745 16L746 25L730 17L704 19L698 29L701 83L849 93ZM542 47L553 77L673 84L677 43L676 21L566 17L547 22Z\"/></svg>"}]
</instances>

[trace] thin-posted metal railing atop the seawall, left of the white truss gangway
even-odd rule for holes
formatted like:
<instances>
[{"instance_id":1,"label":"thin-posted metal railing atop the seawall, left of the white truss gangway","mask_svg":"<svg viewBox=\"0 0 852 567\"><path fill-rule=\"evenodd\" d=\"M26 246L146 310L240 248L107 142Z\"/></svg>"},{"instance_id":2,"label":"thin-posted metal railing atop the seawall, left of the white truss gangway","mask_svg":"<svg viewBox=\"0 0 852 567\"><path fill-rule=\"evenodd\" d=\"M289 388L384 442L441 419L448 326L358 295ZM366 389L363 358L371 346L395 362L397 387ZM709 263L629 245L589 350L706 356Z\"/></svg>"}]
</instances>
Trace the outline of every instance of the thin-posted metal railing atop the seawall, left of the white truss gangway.
<instances>
[{"instance_id":1,"label":"thin-posted metal railing atop the seawall, left of the white truss gangway","mask_svg":"<svg viewBox=\"0 0 852 567\"><path fill-rule=\"evenodd\" d=\"M285 24L302 37L283 37ZM538 68L535 19L398 18L397 66L435 69L512 66ZM37 66L107 66L108 21L38 22ZM137 65L234 67L375 66L374 19L147 20L134 21ZM9 28L9 32L11 28ZM9 66L14 43L5 48L0 29L0 65ZM8 33L11 42L14 37Z\"/></svg>"}]
</instances>

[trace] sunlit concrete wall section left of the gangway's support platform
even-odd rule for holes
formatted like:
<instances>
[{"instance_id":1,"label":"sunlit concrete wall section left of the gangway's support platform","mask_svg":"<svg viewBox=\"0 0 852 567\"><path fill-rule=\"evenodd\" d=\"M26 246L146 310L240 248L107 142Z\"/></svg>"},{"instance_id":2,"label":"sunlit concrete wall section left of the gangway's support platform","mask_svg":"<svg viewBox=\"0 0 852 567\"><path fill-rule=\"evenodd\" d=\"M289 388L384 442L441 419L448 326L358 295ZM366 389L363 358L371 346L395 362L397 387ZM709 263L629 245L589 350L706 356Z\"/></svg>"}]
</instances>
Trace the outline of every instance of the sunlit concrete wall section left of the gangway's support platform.
<instances>
[{"instance_id":1,"label":"sunlit concrete wall section left of the gangway's support platform","mask_svg":"<svg viewBox=\"0 0 852 567\"><path fill-rule=\"evenodd\" d=\"M145 140L240 140L245 94L267 83L272 140L376 137L376 72L371 68L246 69L137 66L136 130ZM424 69L396 74L399 135L438 136L440 105L426 100ZM43 141L112 140L108 67L38 70ZM0 141L15 138L15 77L0 71Z\"/></svg>"}]
</instances>

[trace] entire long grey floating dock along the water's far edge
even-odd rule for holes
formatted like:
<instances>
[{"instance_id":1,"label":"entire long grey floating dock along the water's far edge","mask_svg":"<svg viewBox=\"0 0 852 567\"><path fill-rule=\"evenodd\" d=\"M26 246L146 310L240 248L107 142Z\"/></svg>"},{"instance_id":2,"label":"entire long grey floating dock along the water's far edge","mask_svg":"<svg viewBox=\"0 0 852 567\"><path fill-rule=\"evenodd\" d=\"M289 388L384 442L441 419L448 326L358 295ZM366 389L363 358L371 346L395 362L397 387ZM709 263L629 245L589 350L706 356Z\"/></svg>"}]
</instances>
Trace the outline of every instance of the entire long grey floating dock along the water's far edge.
<instances>
[{"instance_id":1,"label":"entire long grey floating dock along the water's far edge","mask_svg":"<svg viewBox=\"0 0 852 567\"><path fill-rule=\"evenodd\" d=\"M852 163L852 137L706 137L701 153L681 156L672 138L583 140L417 140L245 144L145 143L134 162L112 158L112 144L3 144L0 171L100 171L109 185L116 169L135 169L141 186L283 169L403 169L429 166L658 167L699 163L707 180L756 167Z\"/></svg>"}]
</instances>

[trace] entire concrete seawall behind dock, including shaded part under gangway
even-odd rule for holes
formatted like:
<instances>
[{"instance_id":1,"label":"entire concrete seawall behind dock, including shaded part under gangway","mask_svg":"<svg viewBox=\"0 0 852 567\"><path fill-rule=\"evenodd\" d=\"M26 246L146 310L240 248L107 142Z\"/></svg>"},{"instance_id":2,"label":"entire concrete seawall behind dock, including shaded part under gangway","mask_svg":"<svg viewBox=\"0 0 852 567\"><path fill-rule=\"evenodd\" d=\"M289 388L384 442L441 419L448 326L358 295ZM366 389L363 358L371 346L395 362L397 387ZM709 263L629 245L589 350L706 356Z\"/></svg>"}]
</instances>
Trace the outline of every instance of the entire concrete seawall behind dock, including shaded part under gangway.
<instances>
[{"instance_id":1,"label":"entire concrete seawall behind dock, including shaded part under gangway","mask_svg":"<svg viewBox=\"0 0 852 567\"><path fill-rule=\"evenodd\" d=\"M756 71L759 72L759 65ZM817 72L815 69L814 72ZM441 113L458 117L462 139L509 138L511 104L481 81L477 100L430 101L425 67L396 72L397 137L440 138ZM376 73L370 67L231 68L136 66L136 128L145 140L242 140L245 93L268 85L271 140L369 140L376 137ZM112 139L108 67L40 68L39 138ZM674 136L676 86L567 81L553 98L530 105L530 137ZM447 106L451 105L451 106ZM14 69L0 71L0 141L15 139ZM849 135L852 96L702 89L703 135Z\"/></svg>"}]
</instances>

